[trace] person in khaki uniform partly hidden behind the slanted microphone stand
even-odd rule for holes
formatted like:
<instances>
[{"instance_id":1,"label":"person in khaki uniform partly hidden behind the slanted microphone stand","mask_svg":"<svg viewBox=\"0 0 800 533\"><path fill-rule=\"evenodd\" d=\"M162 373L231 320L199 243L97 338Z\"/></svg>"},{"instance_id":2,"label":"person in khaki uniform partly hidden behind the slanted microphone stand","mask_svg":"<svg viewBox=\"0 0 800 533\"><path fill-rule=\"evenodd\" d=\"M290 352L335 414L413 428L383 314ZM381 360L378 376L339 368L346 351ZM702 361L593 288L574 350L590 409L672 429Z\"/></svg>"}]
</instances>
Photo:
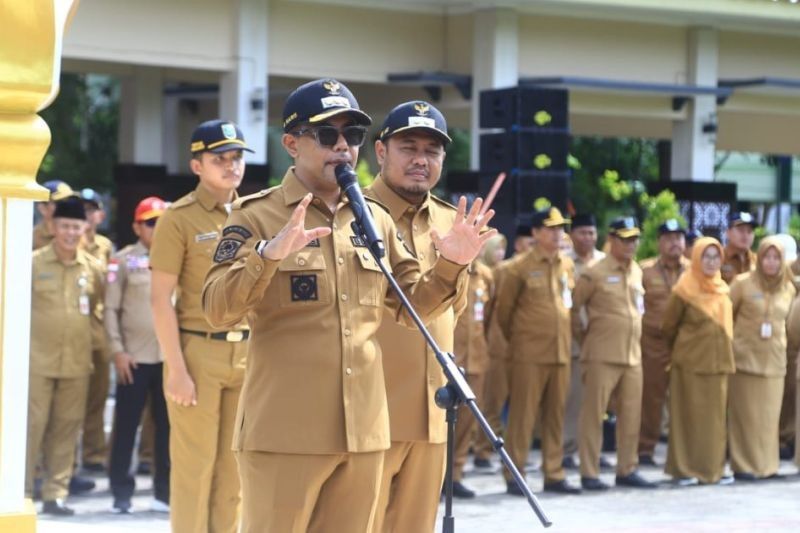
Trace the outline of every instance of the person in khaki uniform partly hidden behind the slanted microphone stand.
<instances>
[{"instance_id":1,"label":"person in khaki uniform partly hidden behind the slanted microphone stand","mask_svg":"<svg viewBox=\"0 0 800 533\"><path fill-rule=\"evenodd\" d=\"M463 368L467 383L475 392L475 402L483 405L484 376L489 368L489 346L486 332L489 323L491 301L494 298L495 286L492 269L475 261L469 272L467 286L467 308L456 322L453 333L453 352L456 364ZM455 431L455 453L453 458L453 496L456 498L474 498L475 492L464 486L464 465L470 445L478 442L476 431L477 420L465 405L458 409Z\"/></svg>"}]
</instances>

